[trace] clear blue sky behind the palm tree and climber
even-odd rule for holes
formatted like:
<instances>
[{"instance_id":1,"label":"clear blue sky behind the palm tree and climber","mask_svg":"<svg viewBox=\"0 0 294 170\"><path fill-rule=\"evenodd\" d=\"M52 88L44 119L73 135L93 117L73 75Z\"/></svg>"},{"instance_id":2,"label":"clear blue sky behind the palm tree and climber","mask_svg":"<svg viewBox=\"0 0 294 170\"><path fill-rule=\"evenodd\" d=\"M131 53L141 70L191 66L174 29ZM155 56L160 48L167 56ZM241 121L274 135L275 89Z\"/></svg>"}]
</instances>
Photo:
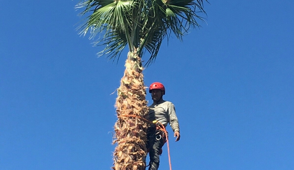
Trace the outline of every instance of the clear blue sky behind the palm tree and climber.
<instances>
[{"instance_id":1,"label":"clear blue sky behind the palm tree and climber","mask_svg":"<svg viewBox=\"0 0 294 170\"><path fill-rule=\"evenodd\" d=\"M78 2L1 1L0 170L112 166L110 94L127 53L97 57L76 31ZM210 3L206 23L144 70L176 106L173 170L294 170L294 1ZM160 160L168 170L166 146Z\"/></svg>"}]
</instances>

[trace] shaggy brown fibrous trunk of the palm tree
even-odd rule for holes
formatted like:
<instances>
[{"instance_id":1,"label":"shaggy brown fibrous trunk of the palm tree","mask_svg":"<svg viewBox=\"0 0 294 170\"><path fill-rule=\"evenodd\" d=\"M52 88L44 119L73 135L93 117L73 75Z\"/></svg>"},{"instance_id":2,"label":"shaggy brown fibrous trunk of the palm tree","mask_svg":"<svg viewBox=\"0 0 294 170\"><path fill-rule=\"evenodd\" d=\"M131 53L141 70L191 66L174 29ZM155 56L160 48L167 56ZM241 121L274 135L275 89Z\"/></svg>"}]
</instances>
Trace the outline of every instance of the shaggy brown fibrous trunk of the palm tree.
<instances>
[{"instance_id":1,"label":"shaggy brown fibrous trunk of the palm tree","mask_svg":"<svg viewBox=\"0 0 294 170\"><path fill-rule=\"evenodd\" d=\"M117 90L114 125L117 143L114 150L114 170L145 170L147 117L146 87L143 81L141 58L134 52L128 53L126 70Z\"/></svg>"}]
</instances>

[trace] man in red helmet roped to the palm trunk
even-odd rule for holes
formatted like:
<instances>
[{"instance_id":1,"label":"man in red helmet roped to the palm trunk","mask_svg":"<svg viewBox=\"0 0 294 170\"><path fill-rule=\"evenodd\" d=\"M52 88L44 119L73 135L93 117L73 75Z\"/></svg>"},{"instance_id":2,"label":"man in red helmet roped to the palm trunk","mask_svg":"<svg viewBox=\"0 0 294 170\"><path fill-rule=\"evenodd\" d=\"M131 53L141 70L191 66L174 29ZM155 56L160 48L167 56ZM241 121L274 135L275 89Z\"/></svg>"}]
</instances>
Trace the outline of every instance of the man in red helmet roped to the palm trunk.
<instances>
[{"instance_id":1,"label":"man in red helmet roped to the palm trunk","mask_svg":"<svg viewBox=\"0 0 294 170\"><path fill-rule=\"evenodd\" d=\"M162 96L165 95L163 84L159 82L152 83L149 88L149 93L151 93L153 104L149 106L148 120L159 122L164 128L169 123L174 132L174 137L176 137L176 142L179 141L180 127L175 112L175 106L172 102L162 99ZM151 127L147 129L147 149L149 150L150 157L148 170L158 170L160 163L159 156L166 138L167 136L156 128L156 125L151 125Z\"/></svg>"}]
</instances>

